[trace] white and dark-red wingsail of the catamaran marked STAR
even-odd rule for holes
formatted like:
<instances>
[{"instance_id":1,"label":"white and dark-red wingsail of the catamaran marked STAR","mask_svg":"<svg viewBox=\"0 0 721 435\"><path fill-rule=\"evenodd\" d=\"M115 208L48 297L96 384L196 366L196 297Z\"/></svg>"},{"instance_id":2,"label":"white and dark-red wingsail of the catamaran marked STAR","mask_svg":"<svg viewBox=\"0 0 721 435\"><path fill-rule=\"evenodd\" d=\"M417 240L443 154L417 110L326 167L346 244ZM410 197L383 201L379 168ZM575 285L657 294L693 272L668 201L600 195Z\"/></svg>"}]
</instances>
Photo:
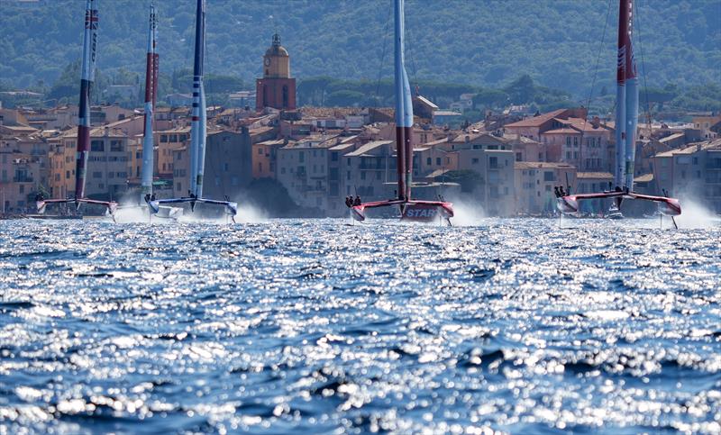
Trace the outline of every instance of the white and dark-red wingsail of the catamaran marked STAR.
<instances>
[{"instance_id":1,"label":"white and dark-red wingsail of the catamaran marked STAR","mask_svg":"<svg viewBox=\"0 0 721 435\"><path fill-rule=\"evenodd\" d=\"M396 150L398 198L411 199L413 174L413 102L404 59L404 0L395 0Z\"/></svg>"}]
</instances>

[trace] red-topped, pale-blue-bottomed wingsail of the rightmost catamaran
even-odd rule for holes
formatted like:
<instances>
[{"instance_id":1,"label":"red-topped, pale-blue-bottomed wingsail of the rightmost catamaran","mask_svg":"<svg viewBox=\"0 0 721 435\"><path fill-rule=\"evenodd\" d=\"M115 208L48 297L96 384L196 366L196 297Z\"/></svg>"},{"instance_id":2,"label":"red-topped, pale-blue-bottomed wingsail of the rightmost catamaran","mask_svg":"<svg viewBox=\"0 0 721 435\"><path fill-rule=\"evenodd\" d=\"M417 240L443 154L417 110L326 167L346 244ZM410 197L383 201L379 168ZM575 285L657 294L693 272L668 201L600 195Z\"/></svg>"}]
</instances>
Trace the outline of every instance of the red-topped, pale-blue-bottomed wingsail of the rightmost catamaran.
<instances>
[{"instance_id":1,"label":"red-topped, pale-blue-bottomed wingsail of the rightmost catamaran","mask_svg":"<svg viewBox=\"0 0 721 435\"><path fill-rule=\"evenodd\" d=\"M616 186L633 190L638 77L632 38L634 0L619 0L618 59L616 64Z\"/></svg>"}]
</instances>

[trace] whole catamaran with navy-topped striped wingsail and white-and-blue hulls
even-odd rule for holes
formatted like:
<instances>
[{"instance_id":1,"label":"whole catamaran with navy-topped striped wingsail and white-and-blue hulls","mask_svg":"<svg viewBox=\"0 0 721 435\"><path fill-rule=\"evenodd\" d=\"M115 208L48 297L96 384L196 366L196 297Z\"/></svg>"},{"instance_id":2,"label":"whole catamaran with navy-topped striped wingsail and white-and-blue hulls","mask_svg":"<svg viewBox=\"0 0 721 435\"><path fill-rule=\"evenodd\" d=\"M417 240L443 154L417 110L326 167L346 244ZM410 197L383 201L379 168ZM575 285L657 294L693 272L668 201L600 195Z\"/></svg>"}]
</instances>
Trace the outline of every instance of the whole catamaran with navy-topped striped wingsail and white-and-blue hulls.
<instances>
[{"instance_id":1,"label":"whole catamaran with navy-topped striped wingsail and white-and-blue hulls","mask_svg":"<svg viewBox=\"0 0 721 435\"><path fill-rule=\"evenodd\" d=\"M182 198L148 201L151 213L158 213L161 204L189 203L195 211L196 204L223 205L225 213L235 220L238 204L203 198L203 174L205 172L205 89L203 88L203 61L205 51L205 0L197 0L196 6L196 51L193 66L193 114L190 127L190 191ZM143 148L144 150L144 148Z\"/></svg>"}]
</instances>

